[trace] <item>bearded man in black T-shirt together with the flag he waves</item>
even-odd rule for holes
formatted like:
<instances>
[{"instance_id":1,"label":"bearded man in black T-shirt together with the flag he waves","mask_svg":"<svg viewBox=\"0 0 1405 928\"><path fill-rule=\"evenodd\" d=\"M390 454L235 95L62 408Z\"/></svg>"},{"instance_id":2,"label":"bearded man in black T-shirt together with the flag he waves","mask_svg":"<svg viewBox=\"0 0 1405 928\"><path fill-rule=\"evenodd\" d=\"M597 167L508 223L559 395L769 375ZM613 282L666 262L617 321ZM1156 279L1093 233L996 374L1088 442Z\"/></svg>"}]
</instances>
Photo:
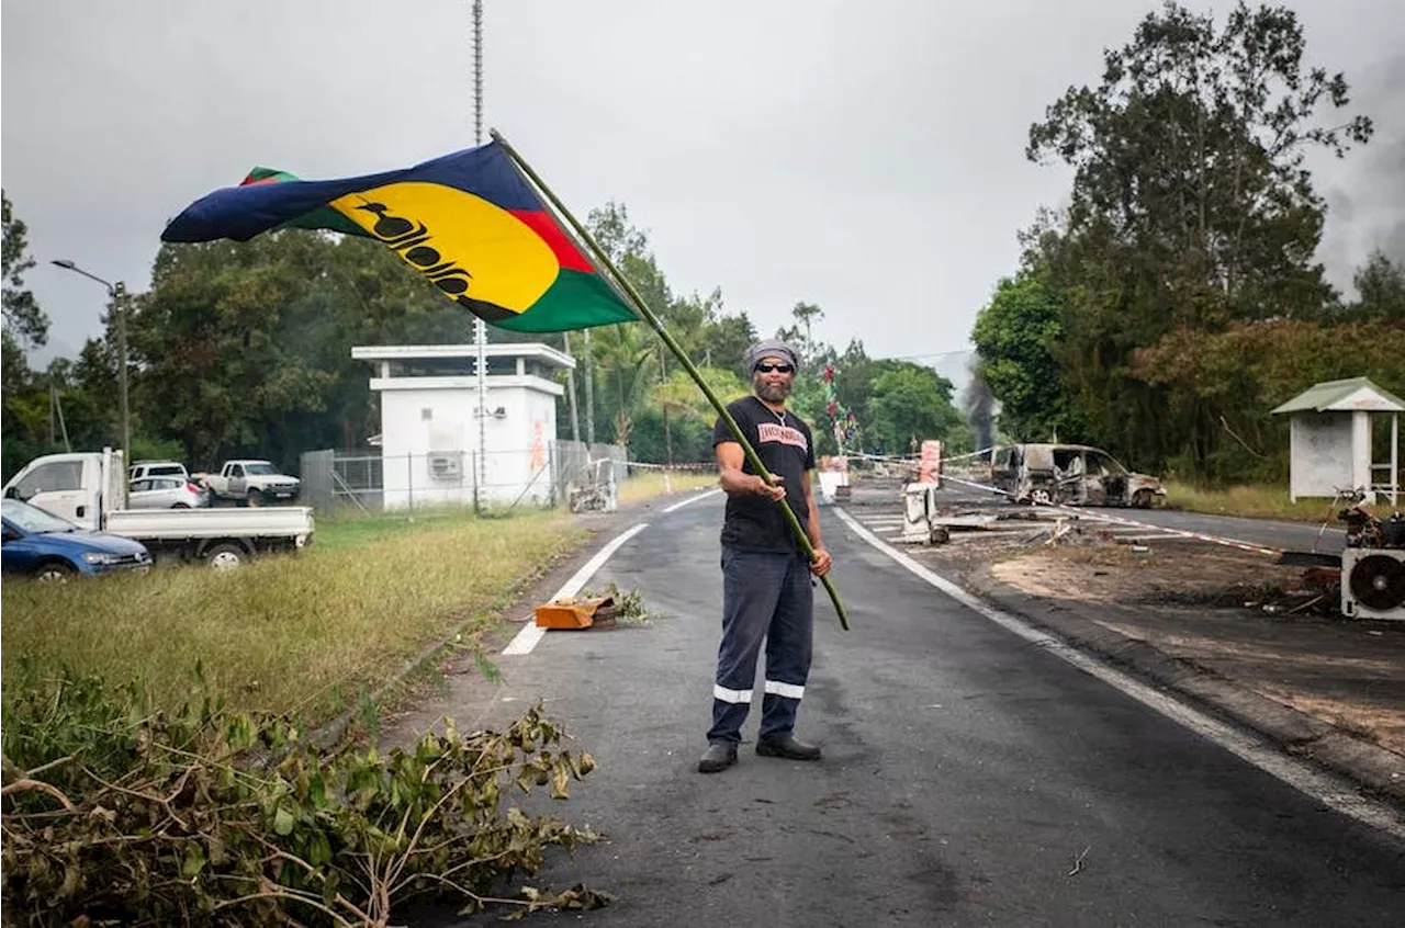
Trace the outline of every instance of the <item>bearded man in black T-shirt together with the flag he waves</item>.
<instances>
[{"instance_id":1,"label":"bearded man in black T-shirt together with the flag he waves","mask_svg":"<svg viewBox=\"0 0 1405 928\"><path fill-rule=\"evenodd\" d=\"M281 229L362 236L500 329L547 333L646 322L718 411L714 445L728 491L722 536L728 598L712 747L700 769L715 772L736 761L738 730L767 636L757 753L819 760L819 748L791 733L809 672L811 573L823 581L844 630L849 618L821 545L809 427L785 409L799 355L784 343L753 347L746 364L756 395L724 407L586 227L506 139L492 135L488 145L360 177L303 181L257 167L237 187L188 205L167 223L162 240L247 241Z\"/></svg>"}]
</instances>

